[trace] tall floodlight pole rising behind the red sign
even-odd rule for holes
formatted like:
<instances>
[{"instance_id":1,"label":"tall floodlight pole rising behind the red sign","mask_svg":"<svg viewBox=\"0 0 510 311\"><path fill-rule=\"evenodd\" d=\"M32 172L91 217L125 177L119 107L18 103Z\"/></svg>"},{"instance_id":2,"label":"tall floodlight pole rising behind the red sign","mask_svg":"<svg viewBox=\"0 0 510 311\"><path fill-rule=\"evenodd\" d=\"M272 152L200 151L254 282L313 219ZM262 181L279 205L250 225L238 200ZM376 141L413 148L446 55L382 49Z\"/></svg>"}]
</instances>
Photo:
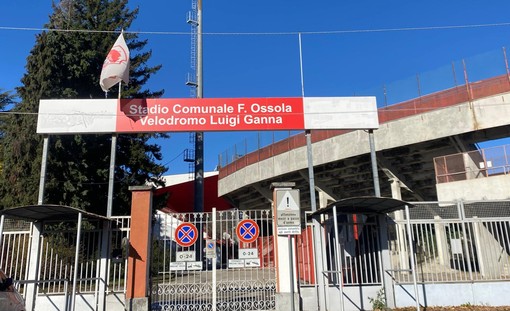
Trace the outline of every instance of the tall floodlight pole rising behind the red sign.
<instances>
[{"instance_id":1,"label":"tall floodlight pole rising behind the red sign","mask_svg":"<svg viewBox=\"0 0 510 311\"><path fill-rule=\"evenodd\" d=\"M202 80L202 0L197 2L197 98L203 97ZM204 211L204 133L195 133L194 211Z\"/></svg>"}]
</instances>

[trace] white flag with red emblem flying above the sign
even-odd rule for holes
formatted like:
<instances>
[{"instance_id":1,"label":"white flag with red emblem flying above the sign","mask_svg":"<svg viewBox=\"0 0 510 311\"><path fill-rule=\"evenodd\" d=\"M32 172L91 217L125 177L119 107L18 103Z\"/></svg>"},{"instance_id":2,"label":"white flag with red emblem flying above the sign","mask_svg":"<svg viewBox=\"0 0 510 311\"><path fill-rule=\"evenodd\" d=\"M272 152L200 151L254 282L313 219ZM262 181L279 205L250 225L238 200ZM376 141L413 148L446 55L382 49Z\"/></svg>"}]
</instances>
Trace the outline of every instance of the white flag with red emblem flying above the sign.
<instances>
[{"instance_id":1,"label":"white flag with red emblem flying above the sign","mask_svg":"<svg viewBox=\"0 0 510 311\"><path fill-rule=\"evenodd\" d=\"M120 81L129 82L129 49L123 33L117 38L104 60L99 85L103 91L107 92Z\"/></svg>"}]
</instances>

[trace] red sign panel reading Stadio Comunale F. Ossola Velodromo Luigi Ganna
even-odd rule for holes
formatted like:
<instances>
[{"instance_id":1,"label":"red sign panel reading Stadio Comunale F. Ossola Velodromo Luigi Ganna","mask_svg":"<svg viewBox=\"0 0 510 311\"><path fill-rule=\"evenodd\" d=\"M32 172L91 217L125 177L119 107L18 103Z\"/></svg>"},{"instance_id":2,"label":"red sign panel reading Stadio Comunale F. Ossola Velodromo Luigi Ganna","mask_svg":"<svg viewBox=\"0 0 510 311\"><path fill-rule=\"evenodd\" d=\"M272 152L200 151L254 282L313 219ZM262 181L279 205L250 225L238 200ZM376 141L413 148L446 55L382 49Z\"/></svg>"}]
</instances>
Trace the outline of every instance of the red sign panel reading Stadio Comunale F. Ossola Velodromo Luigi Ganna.
<instances>
[{"instance_id":1,"label":"red sign panel reading Stadio Comunale F. Ossola Velodromo Luigi Ganna","mask_svg":"<svg viewBox=\"0 0 510 311\"><path fill-rule=\"evenodd\" d=\"M303 98L120 100L118 132L293 130L304 126Z\"/></svg>"}]
</instances>

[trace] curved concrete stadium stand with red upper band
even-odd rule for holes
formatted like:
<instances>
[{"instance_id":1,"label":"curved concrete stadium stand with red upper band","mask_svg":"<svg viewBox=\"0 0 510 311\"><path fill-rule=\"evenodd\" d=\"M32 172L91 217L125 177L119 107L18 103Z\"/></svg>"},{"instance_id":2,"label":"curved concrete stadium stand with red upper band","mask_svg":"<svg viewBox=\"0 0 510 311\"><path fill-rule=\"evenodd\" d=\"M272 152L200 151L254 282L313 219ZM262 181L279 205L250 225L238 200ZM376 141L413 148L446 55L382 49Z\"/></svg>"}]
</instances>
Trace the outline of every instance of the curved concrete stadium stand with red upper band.
<instances>
[{"instance_id":1,"label":"curved concrete stadium stand with red upper band","mask_svg":"<svg viewBox=\"0 0 510 311\"><path fill-rule=\"evenodd\" d=\"M510 77L502 75L379 108L380 128L374 137L381 196L406 201L508 198L501 186L508 183L506 174L497 183L485 178L465 180L469 184L436 184L434 158L470 152L477 150L477 143L509 137L509 92ZM328 200L374 195L366 131L312 131L311 135L320 206ZM304 133L221 167L219 196L240 209L267 208L273 182L295 182L301 208L310 210ZM460 190L466 185L468 191Z\"/></svg>"}]
</instances>

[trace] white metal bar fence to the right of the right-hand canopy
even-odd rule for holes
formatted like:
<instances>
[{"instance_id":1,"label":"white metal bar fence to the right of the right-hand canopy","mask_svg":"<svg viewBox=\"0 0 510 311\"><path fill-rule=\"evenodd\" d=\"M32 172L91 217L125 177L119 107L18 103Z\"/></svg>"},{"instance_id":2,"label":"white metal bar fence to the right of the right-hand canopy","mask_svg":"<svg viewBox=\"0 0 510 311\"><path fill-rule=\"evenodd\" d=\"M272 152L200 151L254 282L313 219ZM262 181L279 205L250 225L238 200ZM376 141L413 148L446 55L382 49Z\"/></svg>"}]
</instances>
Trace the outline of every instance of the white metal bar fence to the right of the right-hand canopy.
<instances>
[{"instance_id":1,"label":"white metal bar fence to the right of the right-hand canopy","mask_svg":"<svg viewBox=\"0 0 510 311\"><path fill-rule=\"evenodd\" d=\"M411 282L405 217L390 232L397 282ZM419 282L510 280L510 201L416 203L410 212Z\"/></svg>"}]
</instances>

